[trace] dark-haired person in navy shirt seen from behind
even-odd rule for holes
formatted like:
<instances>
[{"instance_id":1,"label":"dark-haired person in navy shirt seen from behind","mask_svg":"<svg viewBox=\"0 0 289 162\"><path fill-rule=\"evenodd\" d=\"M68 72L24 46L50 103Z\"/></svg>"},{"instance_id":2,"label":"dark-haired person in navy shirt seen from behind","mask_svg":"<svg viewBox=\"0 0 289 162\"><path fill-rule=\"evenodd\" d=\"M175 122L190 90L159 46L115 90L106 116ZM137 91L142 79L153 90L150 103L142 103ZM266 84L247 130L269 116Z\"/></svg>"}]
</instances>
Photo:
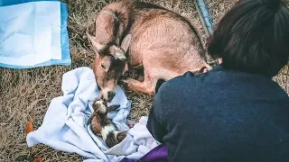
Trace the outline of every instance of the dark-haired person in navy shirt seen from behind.
<instances>
[{"instance_id":1,"label":"dark-haired person in navy shirt seen from behind","mask_svg":"<svg viewBox=\"0 0 289 162\"><path fill-rule=\"evenodd\" d=\"M289 97L273 81L288 63L289 10L282 0L240 0L213 31L219 65L163 83L147 129L168 161L289 161Z\"/></svg>"}]
</instances>

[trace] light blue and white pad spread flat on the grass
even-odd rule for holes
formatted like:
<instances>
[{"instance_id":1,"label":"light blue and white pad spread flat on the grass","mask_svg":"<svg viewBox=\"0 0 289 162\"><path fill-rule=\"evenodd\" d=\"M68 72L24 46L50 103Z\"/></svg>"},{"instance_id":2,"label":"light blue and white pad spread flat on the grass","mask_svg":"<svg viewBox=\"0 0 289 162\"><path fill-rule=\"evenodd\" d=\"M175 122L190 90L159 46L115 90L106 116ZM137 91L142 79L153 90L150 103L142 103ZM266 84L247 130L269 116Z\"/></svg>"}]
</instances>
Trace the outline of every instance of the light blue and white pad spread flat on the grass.
<instances>
[{"instance_id":1,"label":"light blue and white pad spread flat on the grass","mask_svg":"<svg viewBox=\"0 0 289 162\"><path fill-rule=\"evenodd\" d=\"M0 67L70 65L66 4L33 1L0 1Z\"/></svg>"}]
</instances>

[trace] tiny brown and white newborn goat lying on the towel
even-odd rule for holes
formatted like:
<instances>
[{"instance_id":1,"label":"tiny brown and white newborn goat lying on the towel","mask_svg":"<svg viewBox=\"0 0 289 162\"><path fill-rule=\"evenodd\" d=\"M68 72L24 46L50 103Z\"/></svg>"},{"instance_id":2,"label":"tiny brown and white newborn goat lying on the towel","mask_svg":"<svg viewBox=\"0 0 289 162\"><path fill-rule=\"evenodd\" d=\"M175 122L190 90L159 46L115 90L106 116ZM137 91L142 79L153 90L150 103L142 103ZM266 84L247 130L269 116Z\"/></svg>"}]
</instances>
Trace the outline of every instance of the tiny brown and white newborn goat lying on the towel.
<instances>
[{"instance_id":1,"label":"tiny brown and white newborn goat lying on the towel","mask_svg":"<svg viewBox=\"0 0 289 162\"><path fill-rule=\"evenodd\" d=\"M96 99L92 107L94 112L89 117L90 128L95 135L102 137L107 147L112 148L126 138L126 133L117 130L115 124L107 117L107 113L117 110L119 105L107 107L103 100Z\"/></svg>"}]
</instances>

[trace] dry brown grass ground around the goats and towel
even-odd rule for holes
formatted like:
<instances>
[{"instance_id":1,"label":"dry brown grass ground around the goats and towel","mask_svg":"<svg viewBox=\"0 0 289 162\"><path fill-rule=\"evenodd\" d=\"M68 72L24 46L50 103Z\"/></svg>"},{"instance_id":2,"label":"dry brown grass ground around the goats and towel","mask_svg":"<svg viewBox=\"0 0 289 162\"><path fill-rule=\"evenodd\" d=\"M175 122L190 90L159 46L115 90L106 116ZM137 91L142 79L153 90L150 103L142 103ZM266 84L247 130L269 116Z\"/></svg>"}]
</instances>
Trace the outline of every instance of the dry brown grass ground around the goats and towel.
<instances>
[{"instance_id":1,"label":"dry brown grass ground around the goats and towel","mask_svg":"<svg viewBox=\"0 0 289 162\"><path fill-rule=\"evenodd\" d=\"M87 25L107 0L64 0L69 7L70 49L72 65L37 67L32 69L7 69L0 67L0 161L31 161L41 155L43 161L82 161L77 154L54 150L44 145L28 148L25 140L25 124L32 120L34 129L42 119L51 99L61 95L61 76L76 67L91 67L94 53L85 37ZM191 0L151 0L188 17L201 31L200 20ZM214 23L234 3L232 0L207 0ZM289 0L287 0L289 4ZM203 38L205 38L203 36ZM289 93L288 67L277 76L276 81ZM147 115L153 97L126 91L133 102L130 119L137 121Z\"/></svg>"}]
</instances>

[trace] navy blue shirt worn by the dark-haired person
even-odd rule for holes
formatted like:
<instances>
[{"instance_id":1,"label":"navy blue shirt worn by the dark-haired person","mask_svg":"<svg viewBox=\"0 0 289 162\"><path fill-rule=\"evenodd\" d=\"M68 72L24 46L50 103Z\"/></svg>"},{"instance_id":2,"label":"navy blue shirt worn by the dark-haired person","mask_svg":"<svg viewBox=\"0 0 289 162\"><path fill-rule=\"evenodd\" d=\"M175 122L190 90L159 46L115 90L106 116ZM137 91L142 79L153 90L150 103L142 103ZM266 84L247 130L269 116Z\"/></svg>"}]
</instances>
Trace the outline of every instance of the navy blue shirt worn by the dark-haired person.
<instances>
[{"instance_id":1,"label":"navy blue shirt worn by the dark-haired person","mask_svg":"<svg viewBox=\"0 0 289 162\"><path fill-rule=\"evenodd\" d=\"M147 129L169 161L289 162L289 97L270 77L215 67L163 83Z\"/></svg>"}]
</instances>

